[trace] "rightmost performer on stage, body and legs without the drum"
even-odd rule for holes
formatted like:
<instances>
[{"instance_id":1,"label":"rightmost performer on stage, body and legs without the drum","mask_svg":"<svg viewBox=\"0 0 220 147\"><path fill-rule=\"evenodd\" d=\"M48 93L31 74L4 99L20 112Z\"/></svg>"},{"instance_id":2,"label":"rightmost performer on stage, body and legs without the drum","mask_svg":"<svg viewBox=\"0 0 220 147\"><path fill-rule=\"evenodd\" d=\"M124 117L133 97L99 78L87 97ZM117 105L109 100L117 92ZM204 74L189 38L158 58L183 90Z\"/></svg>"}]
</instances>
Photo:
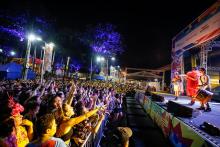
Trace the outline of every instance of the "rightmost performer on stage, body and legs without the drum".
<instances>
[{"instance_id":1,"label":"rightmost performer on stage, body and legs without the drum","mask_svg":"<svg viewBox=\"0 0 220 147\"><path fill-rule=\"evenodd\" d=\"M200 76L199 76L199 89L201 90L211 90L210 86L210 78L206 74L205 68L200 68L199 69ZM199 108L200 110L205 110L205 111L211 111L211 108L209 106L209 97L205 98L203 101L200 101L201 107ZM205 108L206 105L206 108Z\"/></svg>"}]
</instances>

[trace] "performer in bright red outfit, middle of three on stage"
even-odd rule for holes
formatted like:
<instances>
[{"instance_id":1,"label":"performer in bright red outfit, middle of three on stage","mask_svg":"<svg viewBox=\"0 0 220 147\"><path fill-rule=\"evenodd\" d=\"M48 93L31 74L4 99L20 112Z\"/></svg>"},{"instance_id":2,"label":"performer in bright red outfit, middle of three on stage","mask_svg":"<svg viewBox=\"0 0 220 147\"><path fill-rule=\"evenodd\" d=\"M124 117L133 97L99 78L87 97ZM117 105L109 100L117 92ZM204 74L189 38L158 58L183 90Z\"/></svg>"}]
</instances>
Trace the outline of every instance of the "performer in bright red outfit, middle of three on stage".
<instances>
[{"instance_id":1,"label":"performer in bright red outfit, middle of three on stage","mask_svg":"<svg viewBox=\"0 0 220 147\"><path fill-rule=\"evenodd\" d=\"M186 74L186 94L191 98L190 105L195 103L195 97L198 91L198 83L199 83L199 71L197 67L193 67L192 71L187 72Z\"/></svg>"}]
</instances>

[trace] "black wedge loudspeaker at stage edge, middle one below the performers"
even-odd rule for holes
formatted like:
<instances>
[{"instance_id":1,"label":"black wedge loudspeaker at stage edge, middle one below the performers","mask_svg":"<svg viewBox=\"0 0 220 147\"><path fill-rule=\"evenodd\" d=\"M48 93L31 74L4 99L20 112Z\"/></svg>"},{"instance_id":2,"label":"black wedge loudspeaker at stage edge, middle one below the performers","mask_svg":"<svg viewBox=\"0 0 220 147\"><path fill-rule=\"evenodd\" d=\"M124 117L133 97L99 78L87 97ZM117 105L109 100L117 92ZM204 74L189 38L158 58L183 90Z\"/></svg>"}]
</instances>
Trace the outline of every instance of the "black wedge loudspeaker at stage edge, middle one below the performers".
<instances>
[{"instance_id":1,"label":"black wedge loudspeaker at stage edge, middle one below the performers","mask_svg":"<svg viewBox=\"0 0 220 147\"><path fill-rule=\"evenodd\" d=\"M184 105L178 104L173 101L169 101L167 105L167 111L173 113L174 116L179 117L192 117L193 109Z\"/></svg>"}]
</instances>

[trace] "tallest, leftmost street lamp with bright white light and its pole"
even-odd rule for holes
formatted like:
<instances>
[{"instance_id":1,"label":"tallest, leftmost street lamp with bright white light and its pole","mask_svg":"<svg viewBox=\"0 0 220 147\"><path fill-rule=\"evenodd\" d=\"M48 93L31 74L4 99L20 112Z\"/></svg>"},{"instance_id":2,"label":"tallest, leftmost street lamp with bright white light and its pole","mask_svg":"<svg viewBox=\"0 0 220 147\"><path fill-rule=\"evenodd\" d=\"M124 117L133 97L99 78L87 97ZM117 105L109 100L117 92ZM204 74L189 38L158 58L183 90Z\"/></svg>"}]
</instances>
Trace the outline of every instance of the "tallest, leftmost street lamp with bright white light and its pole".
<instances>
[{"instance_id":1,"label":"tallest, leftmost street lamp with bright white light and its pole","mask_svg":"<svg viewBox=\"0 0 220 147\"><path fill-rule=\"evenodd\" d=\"M28 35L28 43L27 43L27 50L25 55L25 62L23 67L23 79L27 80L28 68L29 68L29 58L30 58L30 50L31 50L31 42L33 41L40 41L42 40L40 37L35 36L34 34Z\"/></svg>"}]
</instances>

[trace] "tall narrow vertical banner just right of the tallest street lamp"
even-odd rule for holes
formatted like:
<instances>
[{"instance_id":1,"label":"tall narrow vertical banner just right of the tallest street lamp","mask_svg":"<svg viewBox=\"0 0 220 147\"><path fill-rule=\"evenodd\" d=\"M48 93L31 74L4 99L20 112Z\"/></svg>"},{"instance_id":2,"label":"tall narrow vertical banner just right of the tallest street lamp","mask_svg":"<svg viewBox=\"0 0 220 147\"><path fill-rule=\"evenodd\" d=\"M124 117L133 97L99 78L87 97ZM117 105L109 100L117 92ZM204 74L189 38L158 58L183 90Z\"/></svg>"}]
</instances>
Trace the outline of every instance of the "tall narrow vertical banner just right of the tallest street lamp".
<instances>
[{"instance_id":1,"label":"tall narrow vertical banner just right of the tallest street lamp","mask_svg":"<svg viewBox=\"0 0 220 147\"><path fill-rule=\"evenodd\" d=\"M45 46L44 52L44 71L51 72L51 63L52 63L52 54L53 54L53 47L50 45Z\"/></svg>"}]
</instances>

